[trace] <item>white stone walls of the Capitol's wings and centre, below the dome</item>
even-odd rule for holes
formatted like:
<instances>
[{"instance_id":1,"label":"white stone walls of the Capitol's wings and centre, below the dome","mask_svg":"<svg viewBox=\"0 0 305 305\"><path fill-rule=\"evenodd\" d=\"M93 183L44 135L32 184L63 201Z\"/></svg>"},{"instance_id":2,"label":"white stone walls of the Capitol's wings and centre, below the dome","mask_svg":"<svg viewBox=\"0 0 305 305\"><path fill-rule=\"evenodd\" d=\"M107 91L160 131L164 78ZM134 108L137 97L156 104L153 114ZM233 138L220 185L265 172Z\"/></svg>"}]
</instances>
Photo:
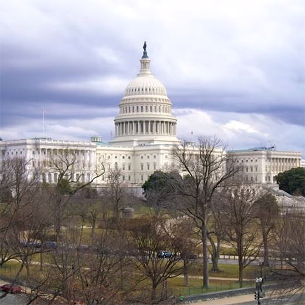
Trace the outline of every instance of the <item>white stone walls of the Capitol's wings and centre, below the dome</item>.
<instances>
[{"instance_id":1,"label":"white stone walls of the Capitol's wings and centre, below the dome","mask_svg":"<svg viewBox=\"0 0 305 305\"><path fill-rule=\"evenodd\" d=\"M58 173L51 161L68 149L76 157L71 174L74 178L81 175L80 181L88 181L96 170L105 167L105 174L94 181L94 185L103 186L111 170L120 170L122 180L128 185L142 185L156 170L179 170L174 164L172 145L140 144L136 146L99 146L94 142L60 141L51 139L26 139L0 142L1 160L25 157L29 161L28 169L42 168L43 179L55 183ZM192 154L196 148L191 147ZM276 150L231 151L231 158L242 165L242 174L253 184L272 184L275 176L282 171L301 166L301 153ZM55 160L56 161L56 160Z\"/></svg>"}]
</instances>

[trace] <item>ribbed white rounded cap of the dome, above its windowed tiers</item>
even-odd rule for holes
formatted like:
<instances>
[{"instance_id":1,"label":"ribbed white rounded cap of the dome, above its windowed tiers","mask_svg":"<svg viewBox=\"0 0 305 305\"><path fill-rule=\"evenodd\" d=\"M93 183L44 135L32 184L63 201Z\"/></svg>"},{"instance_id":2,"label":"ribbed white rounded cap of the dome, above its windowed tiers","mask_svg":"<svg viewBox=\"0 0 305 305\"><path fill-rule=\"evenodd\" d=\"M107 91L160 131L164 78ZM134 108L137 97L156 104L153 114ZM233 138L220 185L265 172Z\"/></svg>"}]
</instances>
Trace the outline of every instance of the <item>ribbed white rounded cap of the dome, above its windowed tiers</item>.
<instances>
[{"instance_id":1,"label":"ribbed white rounded cap of the dome, above its windowed tiers","mask_svg":"<svg viewBox=\"0 0 305 305\"><path fill-rule=\"evenodd\" d=\"M143 94L167 96L164 85L153 74L137 76L128 84L125 90L125 96Z\"/></svg>"}]
</instances>

